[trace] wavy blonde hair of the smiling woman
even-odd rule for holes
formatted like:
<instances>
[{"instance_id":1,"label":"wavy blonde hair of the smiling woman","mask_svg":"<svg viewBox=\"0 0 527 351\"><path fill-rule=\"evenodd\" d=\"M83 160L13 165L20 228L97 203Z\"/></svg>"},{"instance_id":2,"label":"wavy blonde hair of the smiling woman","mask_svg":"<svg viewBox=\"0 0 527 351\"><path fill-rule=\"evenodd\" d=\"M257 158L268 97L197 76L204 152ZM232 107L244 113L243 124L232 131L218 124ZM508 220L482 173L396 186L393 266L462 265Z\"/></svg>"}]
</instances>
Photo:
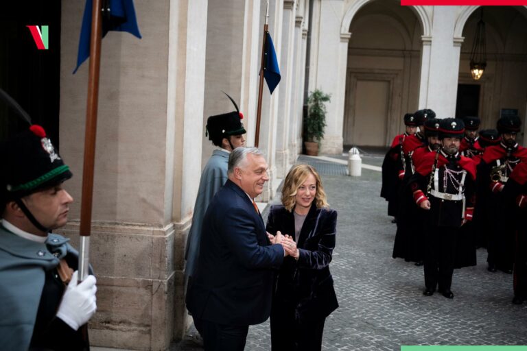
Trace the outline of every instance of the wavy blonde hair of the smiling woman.
<instances>
[{"instance_id":1,"label":"wavy blonde hair of the smiling woman","mask_svg":"<svg viewBox=\"0 0 527 351\"><path fill-rule=\"evenodd\" d=\"M317 208L327 208L329 204L326 201L326 193L324 192L324 186L320 180L320 175L318 175L316 169L309 165L296 165L294 166L285 176L283 181L282 189L282 204L286 210L292 212L294 206L296 205L296 192L298 187L305 182L309 174L314 175L316 180L316 194L314 202Z\"/></svg>"}]
</instances>

